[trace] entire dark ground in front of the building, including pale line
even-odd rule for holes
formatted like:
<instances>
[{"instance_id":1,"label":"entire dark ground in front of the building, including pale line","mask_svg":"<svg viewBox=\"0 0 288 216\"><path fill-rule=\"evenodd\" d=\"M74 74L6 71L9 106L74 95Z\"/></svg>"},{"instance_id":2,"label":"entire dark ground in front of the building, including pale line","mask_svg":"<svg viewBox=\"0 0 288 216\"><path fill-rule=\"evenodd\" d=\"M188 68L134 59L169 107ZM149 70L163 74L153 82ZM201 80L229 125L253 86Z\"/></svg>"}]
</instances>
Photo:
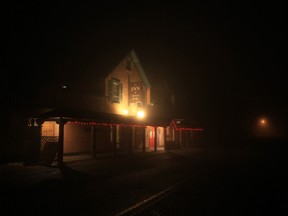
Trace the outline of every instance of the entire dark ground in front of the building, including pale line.
<instances>
[{"instance_id":1,"label":"entire dark ground in front of the building, including pale line","mask_svg":"<svg viewBox=\"0 0 288 216\"><path fill-rule=\"evenodd\" d=\"M266 144L2 165L1 214L287 215L287 148Z\"/></svg>"}]
</instances>

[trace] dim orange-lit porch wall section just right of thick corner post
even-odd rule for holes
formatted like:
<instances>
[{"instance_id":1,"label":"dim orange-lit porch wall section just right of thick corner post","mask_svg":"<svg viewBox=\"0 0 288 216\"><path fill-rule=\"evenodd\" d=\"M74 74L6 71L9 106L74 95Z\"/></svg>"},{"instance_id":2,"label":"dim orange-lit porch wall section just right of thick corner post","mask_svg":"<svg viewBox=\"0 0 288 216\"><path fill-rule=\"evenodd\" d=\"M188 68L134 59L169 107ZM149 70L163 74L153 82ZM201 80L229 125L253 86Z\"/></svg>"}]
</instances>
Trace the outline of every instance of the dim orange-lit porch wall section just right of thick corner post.
<instances>
[{"instance_id":1,"label":"dim orange-lit porch wall section just right of thick corner post","mask_svg":"<svg viewBox=\"0 0 288 216\"><path fill-rule=\"evenodd\" d=\"M91 153L91 126L65 124L64 154Z\"/></svg>"}]
</instances>

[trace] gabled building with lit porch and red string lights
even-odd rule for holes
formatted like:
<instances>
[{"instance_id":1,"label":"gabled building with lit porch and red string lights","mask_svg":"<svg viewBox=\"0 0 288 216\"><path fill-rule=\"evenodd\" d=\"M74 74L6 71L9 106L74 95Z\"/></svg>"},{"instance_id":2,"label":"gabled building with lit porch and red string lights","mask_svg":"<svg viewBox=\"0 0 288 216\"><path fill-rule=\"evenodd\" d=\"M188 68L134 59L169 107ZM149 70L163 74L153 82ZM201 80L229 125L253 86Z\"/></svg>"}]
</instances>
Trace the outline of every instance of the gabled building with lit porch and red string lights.
<instances>
[{"instance_id":1,"label":"gabled building with lit porch and red string lights","mask_svg":"<svg viewBox=\"0 0 288 216\"><path fill-rule=\"evenodd\" d=\"M61 164L65 155L165 150L166 138L188 146L194 129L179 129L179 120L153 107L151 85L134 50L108 53L87 68L77 79L41 89L38 105L45 109L29 122L39 128L40 161Z\"/></svg>"}]
</instances>

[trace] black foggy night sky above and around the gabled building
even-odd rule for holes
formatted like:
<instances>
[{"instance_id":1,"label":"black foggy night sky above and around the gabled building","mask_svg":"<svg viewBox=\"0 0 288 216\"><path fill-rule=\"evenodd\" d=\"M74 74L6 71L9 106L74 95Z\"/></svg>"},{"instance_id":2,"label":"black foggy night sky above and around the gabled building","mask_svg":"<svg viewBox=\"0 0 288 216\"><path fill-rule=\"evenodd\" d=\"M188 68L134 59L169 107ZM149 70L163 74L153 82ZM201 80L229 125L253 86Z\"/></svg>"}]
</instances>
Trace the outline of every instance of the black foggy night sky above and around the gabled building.
<instances>
[{"instance_id":1,"label":"black foggy night sky above and around the gabled building","mask_svg":"<svg viewBox=\"0 0 288 216\"><path fill-rule=\"evenodd\" d=\"M152 90L168 85L175 94L179 116L219 136L247 131L266 116L278 135L287 134L284 1L88 2L9 3L2 74L8 100L29 101L57 78L57 65L128 47Z\"/></svg>"}]
</instances>

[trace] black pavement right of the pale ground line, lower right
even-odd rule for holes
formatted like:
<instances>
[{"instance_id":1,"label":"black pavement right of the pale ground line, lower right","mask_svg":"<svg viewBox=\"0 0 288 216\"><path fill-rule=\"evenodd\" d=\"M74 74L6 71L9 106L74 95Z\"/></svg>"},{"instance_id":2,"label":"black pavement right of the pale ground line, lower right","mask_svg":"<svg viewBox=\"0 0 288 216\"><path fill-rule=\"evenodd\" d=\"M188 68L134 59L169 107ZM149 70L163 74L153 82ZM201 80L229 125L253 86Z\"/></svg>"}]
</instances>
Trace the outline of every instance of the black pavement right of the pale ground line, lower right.
<instances>
[{"instance_id":1,"label":"black pavement right of the pale ground line, lower right","mask_svg":"<svg viewBox=\"0 0 288 216\"><path fill-rule=\"evenodd\" d=\"M133 215L288 215L286 153L246 152L215 162Z\"/></svg>"}]
</instances>

